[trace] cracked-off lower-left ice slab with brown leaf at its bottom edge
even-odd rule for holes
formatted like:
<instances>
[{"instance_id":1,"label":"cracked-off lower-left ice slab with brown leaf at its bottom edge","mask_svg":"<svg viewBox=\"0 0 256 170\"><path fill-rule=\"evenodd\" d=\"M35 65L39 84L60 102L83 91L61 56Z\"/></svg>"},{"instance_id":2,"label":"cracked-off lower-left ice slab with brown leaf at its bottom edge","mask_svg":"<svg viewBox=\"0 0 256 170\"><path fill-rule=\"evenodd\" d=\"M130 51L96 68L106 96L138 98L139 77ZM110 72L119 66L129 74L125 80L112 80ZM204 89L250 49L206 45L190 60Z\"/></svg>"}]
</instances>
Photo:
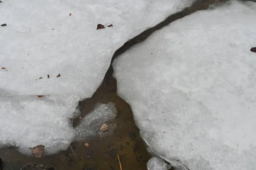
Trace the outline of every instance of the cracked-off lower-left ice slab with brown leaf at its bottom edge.
<instances>
[{"instance_id":1,"label":"cracked-off lower-left ice slab with brown leaf at its bottom edge","mask_svg":"<svg viewBox=\"0 0 256 170\"><path fill-rule=\"evenodd\" d=\"M47 154L64 150L74 136L71 118L79 96L0 97L0 143L15 142L22 153L45 146Z\"/></svg>"}]
</instances>

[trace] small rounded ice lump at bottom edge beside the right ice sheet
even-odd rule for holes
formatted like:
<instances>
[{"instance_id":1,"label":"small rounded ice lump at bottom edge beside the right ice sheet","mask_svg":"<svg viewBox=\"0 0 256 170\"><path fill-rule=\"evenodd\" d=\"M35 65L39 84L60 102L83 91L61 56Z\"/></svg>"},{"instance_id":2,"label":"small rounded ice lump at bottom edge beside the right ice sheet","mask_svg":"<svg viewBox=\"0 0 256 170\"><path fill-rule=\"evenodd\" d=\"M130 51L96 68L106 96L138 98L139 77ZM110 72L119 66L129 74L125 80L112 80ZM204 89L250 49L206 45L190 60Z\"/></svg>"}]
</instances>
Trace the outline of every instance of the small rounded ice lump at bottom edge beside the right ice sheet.
<instances>
[{"instance_id":1,"label":"small rounded ice lump at bottom edge beside the right ice sheet","mask_svg":"<svg viewBox=\"0 0 256 170\"><path fill-rule=\"evenodd\" d=\"M148 170L169 170L171 166L163 159L153 157L147 163Z\"/></svg>"}]
</instances>

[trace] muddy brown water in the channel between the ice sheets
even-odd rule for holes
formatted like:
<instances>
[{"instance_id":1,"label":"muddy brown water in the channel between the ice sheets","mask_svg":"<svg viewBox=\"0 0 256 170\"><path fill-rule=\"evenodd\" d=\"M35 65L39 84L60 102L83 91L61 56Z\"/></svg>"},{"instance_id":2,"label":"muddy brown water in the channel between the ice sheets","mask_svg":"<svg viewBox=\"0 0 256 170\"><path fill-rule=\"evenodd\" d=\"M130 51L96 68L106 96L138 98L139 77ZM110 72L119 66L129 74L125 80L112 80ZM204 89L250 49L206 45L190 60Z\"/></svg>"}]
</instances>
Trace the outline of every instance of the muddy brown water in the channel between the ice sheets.
<instances>
[{"instance_id":1,"label":"muddy brown water in the channel between the ice sheets","mask_svg":"<svg viewBox=\"0 0 256 170\"><path fill-rule=\"evenodd\" d=\"M217 0L197 0L191 7L172 14L157 26L149 28L126 42L115 52L111 62L132 45L143 42L154 31L195 11L207 9L215 1ZM225 1L218 0L218 2ZM5 164L3 170L20 170L20 168L31 163L47 164L56 170L120 170L117 155L119 156L122 170L146 170L146 163L151 158L151 155L146 150L143 139L140 137L140 131L134 123L130 105L116 94L116 79L113 78L112 74L113 68L110 66L102 85L90 99L84 99L79 102L79 106L83 117L93 110L97 102L116 103L118 117L108 122L108 124L118 123L113 135L73 142L71 146L78 160L70 147L54 155L45 155L41 158L22 155L14 148L1 148L0 158L3 159ZM73 125L78 125L79 120L79 117L74 119ZM89 146L85 146L85 143L89 144Z\"/></svg>"}]
</instances>

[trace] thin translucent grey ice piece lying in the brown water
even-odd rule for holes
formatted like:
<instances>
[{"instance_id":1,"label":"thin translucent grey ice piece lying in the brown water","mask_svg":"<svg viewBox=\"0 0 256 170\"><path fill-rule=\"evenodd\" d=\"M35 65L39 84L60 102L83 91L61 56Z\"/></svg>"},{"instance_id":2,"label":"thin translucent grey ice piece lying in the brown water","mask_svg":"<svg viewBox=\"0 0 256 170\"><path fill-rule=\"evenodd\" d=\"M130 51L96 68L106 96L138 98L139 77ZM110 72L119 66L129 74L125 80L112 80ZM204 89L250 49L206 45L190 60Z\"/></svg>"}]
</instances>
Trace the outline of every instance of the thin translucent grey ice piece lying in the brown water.
<instances>
[{"instance_id":1,"label":"thin translucent grey ice piece lying in the brown water","mask_svg":"<svg viewBox=\"0 0 256 170\"><path fill-rule=\"evenodd\" d=\"M107 122L108 120L115 119L117 117L116 104L108 102L107 104L97 104L93 111L85 116L80 124L75 128L76 139L83 140L86 138L97 137L102 134L99 131L100 125ZM114 126L109 126L113 130Z\"/></svg>"}]
</instances>

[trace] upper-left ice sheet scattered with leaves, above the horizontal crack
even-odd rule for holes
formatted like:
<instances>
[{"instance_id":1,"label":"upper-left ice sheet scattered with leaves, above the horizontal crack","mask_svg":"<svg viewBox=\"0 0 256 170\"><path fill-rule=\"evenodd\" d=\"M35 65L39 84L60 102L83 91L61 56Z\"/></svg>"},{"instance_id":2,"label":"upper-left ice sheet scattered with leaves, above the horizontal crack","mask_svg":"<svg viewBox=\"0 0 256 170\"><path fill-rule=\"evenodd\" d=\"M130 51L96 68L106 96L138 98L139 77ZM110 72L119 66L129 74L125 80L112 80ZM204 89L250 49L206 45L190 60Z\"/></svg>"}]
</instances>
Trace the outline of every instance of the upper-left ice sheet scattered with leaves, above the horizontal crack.
<instances>
[{"instance_id":1,"label":"upper-left ice sheet scattered with leaves, above the horizontal crack","mask_svg":"<svg viewBox=\"0 0 256 170\"><path fill-rule=\"evenodd\" d=\"M89 98L119 47L192 2L7 0L0 4L7 24L0 29L0 96ZM106 28L96 30L98 24Z\"/></svg>"}]
</instances>

